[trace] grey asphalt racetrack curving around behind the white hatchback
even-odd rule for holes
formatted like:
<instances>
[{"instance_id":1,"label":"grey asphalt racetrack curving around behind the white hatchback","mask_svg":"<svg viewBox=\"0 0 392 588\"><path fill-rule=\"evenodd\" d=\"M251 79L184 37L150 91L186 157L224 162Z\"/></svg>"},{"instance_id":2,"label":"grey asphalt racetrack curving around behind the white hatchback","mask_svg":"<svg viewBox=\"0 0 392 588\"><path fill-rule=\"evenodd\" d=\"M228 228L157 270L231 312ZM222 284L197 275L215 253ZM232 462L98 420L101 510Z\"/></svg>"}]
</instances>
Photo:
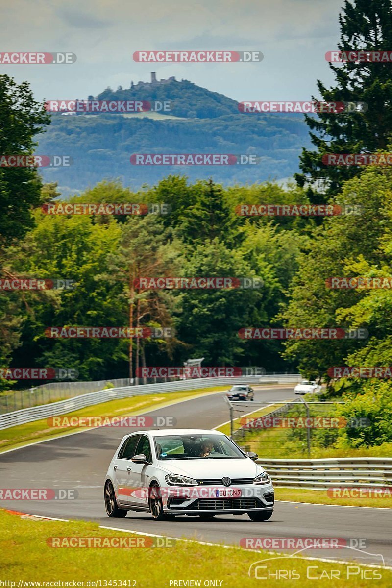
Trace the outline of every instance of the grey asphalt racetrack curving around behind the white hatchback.
<instances>
[{"instance_id":1,"label":"grey asphalt racetrack curving around behind the white hatchback","mask_svg":"<svg viewBox=\"0 0 392 588\"><path fill-rule=\"evenodd\" d=\"M174 416L179 428L209 429L229 419L223 396L223 392L199 396L145 414ZM292 397L290 386L255 387L254 400L274 402ZM249 403L249 412L254 408ZM134 430L99 427L0 453L2 488L78 491L75 500L1 500L0 505L32 515L93 520L118 529L236 546L244 537L365 539L366 547L359 551L348 548L309 549L302 554L333 560L355 559L379 565L383 564L384 558L386 566L392 565L392 511L386 509L277 501L272 519L262 523L252 522L247 515L217 515L209 521L181 516L175 520L156 522L149 513L135 512L129 512L125 519L109 519L103 502L103 480L120 439Z\"/></svg>"}]
</instances>

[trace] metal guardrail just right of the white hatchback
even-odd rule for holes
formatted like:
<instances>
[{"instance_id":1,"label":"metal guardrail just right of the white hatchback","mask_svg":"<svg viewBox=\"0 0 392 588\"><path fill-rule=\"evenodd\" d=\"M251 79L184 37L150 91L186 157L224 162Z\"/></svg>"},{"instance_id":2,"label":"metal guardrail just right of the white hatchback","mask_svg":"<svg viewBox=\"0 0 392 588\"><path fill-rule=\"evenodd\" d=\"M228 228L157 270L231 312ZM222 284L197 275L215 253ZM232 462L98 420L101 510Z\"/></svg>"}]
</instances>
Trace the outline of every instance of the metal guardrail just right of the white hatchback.
<instances>
[{"instance_id":1,"label":"metal guardrail just right of the white hatchback","mask_svg":"<svg viewBox=\"0 0 392 588\"><path fill-rule=\"evenodd\" d=\"M327 490L331 487L392 486L392 457L258 459L275 486Z\"/></svg>"}]
</instances>

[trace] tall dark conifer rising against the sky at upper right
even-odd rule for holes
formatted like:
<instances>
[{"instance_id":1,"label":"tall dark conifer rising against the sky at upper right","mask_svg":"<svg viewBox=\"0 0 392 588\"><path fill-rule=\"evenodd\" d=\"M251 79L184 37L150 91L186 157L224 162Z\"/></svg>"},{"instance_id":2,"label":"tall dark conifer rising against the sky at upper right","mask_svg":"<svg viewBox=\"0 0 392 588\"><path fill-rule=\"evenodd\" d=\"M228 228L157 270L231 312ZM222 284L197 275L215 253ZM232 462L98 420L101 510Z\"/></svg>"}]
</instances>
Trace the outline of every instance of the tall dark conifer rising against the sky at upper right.
<instances>
[{"instance_id":1,"label":"tall dark conifer rising against the sky at upper right","mask_svg":"<svg viewBox=\"0 0 392 588\"><path fill-rule=\"evenodd\" d=\"M345 2L339 15L340 51L392 50L391 0L353 0ZM320 200L317 190L326 195L340 191L344 181L360 173L360 166L323 163L327 153L373 153L385 150L392 135L392 63L353 62L333 65L336 85L317 88L325 102L363 102L367 109L306 115L311 142L317 151L303 149L297 183L309 182L311 202ZM316 183L314 183L316 182Z\"/></svg>"}]
</instances>

